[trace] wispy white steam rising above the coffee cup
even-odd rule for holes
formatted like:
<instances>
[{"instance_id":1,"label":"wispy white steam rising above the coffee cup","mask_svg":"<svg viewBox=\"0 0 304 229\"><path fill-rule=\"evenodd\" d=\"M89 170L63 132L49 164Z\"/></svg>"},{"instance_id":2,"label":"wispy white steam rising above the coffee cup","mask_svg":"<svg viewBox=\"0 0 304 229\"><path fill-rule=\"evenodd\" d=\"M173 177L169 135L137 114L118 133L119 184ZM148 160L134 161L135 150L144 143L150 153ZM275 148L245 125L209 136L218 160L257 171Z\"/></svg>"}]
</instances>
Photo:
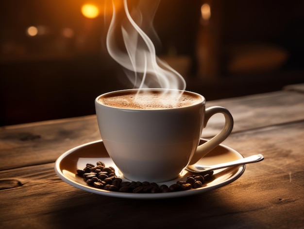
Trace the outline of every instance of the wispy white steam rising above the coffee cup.
<instances>
[{"instance_id":1,"label":"wispy white steam rising above the coffee cup","mask_svg":"<svg viewBox=\"0 0 304 229\"><path fill-rule=\"evenodd\" d=\"M143 31L146 29L153 32L152 19L158 2L141 0L130 13L127 0L124 0L125 16L121 19L113 1L113 16L106 37L107 49L112 58L124 67L135 88L185 90L184 78L156 56L152 40ZM143 14L141 9L148 11ZM150 18L144 18L146 16ZM117 30L120 30L122 36L123 49L118 44Z\"/></svg>"}]
</instances>

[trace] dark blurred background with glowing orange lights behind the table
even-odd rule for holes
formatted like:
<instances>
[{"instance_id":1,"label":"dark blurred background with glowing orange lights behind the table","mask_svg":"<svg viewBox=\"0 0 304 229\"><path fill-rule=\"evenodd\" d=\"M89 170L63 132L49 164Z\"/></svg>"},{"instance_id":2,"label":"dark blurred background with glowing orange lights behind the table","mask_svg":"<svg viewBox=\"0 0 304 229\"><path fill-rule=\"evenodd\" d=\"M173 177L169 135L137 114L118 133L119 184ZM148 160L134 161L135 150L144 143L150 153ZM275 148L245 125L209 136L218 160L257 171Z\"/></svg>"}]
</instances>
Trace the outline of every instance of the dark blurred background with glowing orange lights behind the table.
<instances>
[{"instance_id":1,"label":"dark blurred background with glowing orange lights behind the table","mask_svg":"<svg viewBox=\"0 0 304 229\"><path fill-rule=\"evenodd\" d=\"M0 125L94 114L132 88L106 51L107 4L1 0ZM153 25L157 54L208 101L304 83L303 0L161 0Z\"/></svg>"}]
</instances>

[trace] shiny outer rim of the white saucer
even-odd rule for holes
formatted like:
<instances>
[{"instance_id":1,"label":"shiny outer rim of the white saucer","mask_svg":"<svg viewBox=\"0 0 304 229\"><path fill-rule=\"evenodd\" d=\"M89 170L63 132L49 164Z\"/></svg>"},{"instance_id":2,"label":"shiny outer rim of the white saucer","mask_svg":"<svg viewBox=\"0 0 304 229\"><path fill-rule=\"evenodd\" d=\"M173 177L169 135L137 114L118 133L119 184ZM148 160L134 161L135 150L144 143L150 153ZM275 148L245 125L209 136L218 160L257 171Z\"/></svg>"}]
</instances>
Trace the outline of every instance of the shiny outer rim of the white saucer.
<instances>
[{"instance_id":1,"label":"shiny outer rim of the white saucer","mask_svg":"<svg viewBox=\"0 0 304 229\"><path fill-rule=\"evenodd\" d=\"M201 138L201 140L208 141L207 139L203 139L203 138ZM238 167L235 175L225 179L224 181L222 181L220 183L214 184L212 186L203 186L202 188L190 189L190 190L179 191L179 192L154 193L154 194L149 194L149 193L136 193L136 194L135 193L122 193L122 192L113 192L113 191L97 189L97 188L94 188L94 187L91 187L91 186L84 185L84 184L78 183L76 181L73 181L73 180L69 179L67 176L64 175L64 173L61 169L61 166L60 166L60 163L63 159L65 159L68 155L75 153L75 151L77 151L80 148L83 148L87 145L100 143L100 142L103 142L103 141L102 140L90 141L90 142L78 145L76 147L73 147L73 148L69 149L68 151L63 153L61 156L59 156L58 159L56 159L55 165L54 165L54 170L55 170L55 173L57 174L57 176L59 176L63 181L65 181L69 185L71 185L75 188L78 188L80 190L83 190L85 192L89 192L89 193L93 193L93 194L100 194L100 195L111 196L111 197L119 197L119 198L129 198L129 199L163 199L163 198L175 198L175 197L201 194L201 193L205 193L205 192L208 192L208 191L211 191L211 190L221 188L223 186L226 186L226 185L232 183L233 181L238 179L240 176L242 176L242 174L245 172L245 167L246 167L245 165L239 165L239 166L231 167L231 168L235 168L235 169ZM228 149L229 151L232 151L235 154L238 154L238 156L243 158L243 155L241 155L235 149L233 149L229 146L226 146L224 144L220 144L219 146L224 147L224 148ZM76 174L76 172L75 172L75 174ZM162 182L162 184L163 183L166 183L166 182Z\"/></svg>"}]
</instances>

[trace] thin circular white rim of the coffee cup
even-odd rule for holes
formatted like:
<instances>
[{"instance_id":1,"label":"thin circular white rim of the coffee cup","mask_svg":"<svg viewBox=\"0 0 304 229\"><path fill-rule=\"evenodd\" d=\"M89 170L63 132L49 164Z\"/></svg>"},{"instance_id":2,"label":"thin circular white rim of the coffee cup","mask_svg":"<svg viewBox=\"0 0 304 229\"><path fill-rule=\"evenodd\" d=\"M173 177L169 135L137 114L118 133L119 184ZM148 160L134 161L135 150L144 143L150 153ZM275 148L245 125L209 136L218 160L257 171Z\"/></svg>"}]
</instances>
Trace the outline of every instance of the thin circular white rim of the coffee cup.
<instances>
[{"instance_id":1,"label":"thin circular white rim of the coffee cup","mask_svg":"<svg viewBox=\"0 0 304 229\"><path fill-rule=\"evenodd\" d=\"M130 92L130 91L138 91L138 90L141 90L141 91L150 91L150 90L152 90L152 91L180 91L182 93L186 92L186 93L193 94L193 95L196 95L196 96L200 97L201 101L199 101L197 103L194 103L194 104L191 104L189 106L171 107L171 108L156 108L156 109L122 108L122 107L105 105L105 104L103 104L103 103L101 103L99 101L99 99L101 97L104 97L104 96L107 96L107 95L117 94L117 93L123 93L123 92ZM193 91L188 91L188 90L170 89L170 88L131 88L131 89L119 89L119 90L113 90L113 91L105 92L105 93L97 96L96 99L95 99L95 104L98 104L98 105L101 105L101 106L112 107L112 108L117 108L117 109L125 109L125 110L149 110L149 111L152 111L152 110L183 109L183 108L191 107L191 106L205 105L205 103L206 103L205 97L203 95L199 94L199 93L196 93L196 92L193 92Z\"/></svg>"}]
</instances>

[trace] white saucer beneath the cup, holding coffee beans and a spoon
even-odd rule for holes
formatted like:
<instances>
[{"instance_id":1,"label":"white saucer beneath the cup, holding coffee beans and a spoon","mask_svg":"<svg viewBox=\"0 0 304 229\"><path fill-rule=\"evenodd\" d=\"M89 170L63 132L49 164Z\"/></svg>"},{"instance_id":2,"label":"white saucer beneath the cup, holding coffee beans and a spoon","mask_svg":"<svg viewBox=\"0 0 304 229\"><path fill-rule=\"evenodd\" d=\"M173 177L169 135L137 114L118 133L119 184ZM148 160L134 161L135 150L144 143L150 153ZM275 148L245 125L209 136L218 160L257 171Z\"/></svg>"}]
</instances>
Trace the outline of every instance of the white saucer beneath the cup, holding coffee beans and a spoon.
<instances>
[{"instance_id":1,"label":"white saucer beneath the cup, holding coffee beans and a spoon","mask_svg":"<svg viewBox=\"0 0 304 229\"><path fill-rule=\"evenodd\" d=\"M205 141L207 140L201 139L201 143ZM213 165L241 158L243 158L243 156L236 150L223 144L220 144L214 150L208 153L207 156L201 159L198 163L204 165ZM210 190L214 190L235 181L245 171L245 165L215 170L213 174L214 179L211 182L205 183L202 188L198 189L171 193L135 194L106 191L90 187L86 184L82 177L76 176L77 169L84 169L86 163L96 164L97 161L104 162L106 167L113 166L115 168L116 174L119 176L118 168L114 164L113 160L109 157L102 141L92 141L68 150L56 160L55 172L63 181L89 193L133 199L160 199L201 194ZM177 180L186 180L186 176L189 175L191 175L191 173L183 171L180 174L180 177L178 177L177 179L164 183L159 183L159 185L166 184L170 186L171 184L176 183ZM123 180L126 180L123 177L121 178Z\"/></svg>"}]
</instances>

